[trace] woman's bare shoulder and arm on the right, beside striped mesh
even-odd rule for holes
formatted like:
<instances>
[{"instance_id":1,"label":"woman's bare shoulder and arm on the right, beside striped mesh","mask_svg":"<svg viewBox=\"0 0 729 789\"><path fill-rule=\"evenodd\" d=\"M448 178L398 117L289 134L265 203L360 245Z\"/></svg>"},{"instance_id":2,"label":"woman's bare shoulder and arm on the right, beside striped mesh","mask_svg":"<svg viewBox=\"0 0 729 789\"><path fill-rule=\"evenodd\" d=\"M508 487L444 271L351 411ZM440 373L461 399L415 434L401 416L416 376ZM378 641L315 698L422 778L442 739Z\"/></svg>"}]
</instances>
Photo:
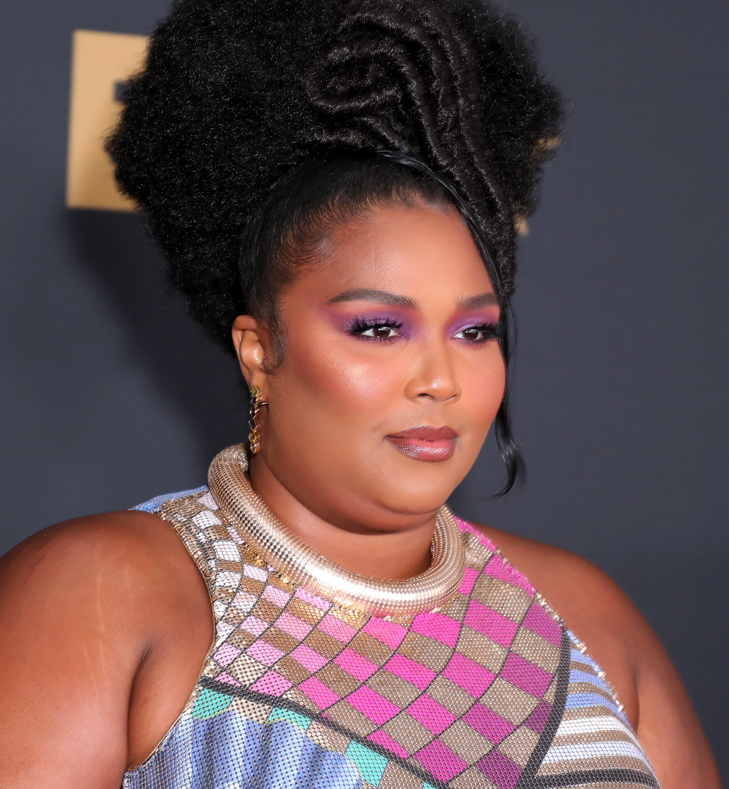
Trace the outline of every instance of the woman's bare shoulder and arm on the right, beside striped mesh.
<instances>
[{"instance_id":1,"label":"woman's bare shoulder and arm on the right, beside striped mesh","mask_svg":"<svg viewBox=\"0 0 729 789\"><path fill-rule=\"evenodd\" d=\"M679 674L619 585L563 548L474 525L585 643L615 688L663 789L719 789L716 764Z\"/></svg>"}]
</instances>

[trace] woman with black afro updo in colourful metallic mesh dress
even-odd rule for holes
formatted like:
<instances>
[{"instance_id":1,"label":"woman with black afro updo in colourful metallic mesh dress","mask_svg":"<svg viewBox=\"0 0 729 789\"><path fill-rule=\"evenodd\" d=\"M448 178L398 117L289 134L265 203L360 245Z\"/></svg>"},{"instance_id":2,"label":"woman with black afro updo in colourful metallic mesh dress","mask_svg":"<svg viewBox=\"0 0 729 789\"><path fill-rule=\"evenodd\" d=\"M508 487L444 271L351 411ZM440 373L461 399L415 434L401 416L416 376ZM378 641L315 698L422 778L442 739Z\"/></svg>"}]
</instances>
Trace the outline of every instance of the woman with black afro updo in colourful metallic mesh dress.
<instances>
[{"instance_id":1,"label":"woman with black afro updo in colourful metallic mesh dress","mask_svg":"<svg viewBox=\"0 0 729 789\"><path fill-rule=\"evenodd\" d=\"M118 181L236 354L249 443L6 557L2 785L718 787L619 589L444 504L492 424L502 493L521 469L514 228L560 106L518 26L183 0L125 104Z\"/></svg>"}]
</instances>

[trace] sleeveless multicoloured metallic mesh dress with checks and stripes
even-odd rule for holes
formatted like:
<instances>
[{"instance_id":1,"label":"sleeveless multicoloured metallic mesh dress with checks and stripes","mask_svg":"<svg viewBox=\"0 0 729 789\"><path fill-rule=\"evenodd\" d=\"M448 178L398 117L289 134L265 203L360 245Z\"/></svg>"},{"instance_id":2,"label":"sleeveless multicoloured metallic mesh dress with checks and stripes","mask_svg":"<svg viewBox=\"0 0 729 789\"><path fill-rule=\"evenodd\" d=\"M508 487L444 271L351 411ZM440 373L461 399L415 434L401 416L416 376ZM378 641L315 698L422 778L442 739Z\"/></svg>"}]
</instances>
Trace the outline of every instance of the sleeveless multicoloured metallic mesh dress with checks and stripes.
<instances>
[{"instance_id":1,"label":"sleeveless multicoloured metallic mesh dress with checks and stripes","mask_svg":"<svg viewBox=\"0 0 729 789\"><path fill-rule=\"evenodd\" d=\"M256 561L208 488L136 509L200 567L216 638L124 789L658 787L603 671L468 523L458 593L402 623Z\"/></svg>"}]
</instances>

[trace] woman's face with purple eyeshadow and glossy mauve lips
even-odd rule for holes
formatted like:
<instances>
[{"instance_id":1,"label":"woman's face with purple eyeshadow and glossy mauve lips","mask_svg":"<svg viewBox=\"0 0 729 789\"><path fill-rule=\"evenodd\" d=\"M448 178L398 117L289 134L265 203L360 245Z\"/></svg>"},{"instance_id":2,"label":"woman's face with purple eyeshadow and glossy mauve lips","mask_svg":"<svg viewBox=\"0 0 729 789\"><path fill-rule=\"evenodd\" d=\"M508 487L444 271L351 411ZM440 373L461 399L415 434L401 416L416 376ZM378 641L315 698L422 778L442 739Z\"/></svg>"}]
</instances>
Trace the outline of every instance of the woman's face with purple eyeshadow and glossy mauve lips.
<instances>
[{"instance_id":1,"label":"woman's face with purple eyeshadow and glossy mauve lips","mask_svg":"<svg viewBox=\"0 0 729 789\"><path fill-rule=\"evenodd\" d=\"M280 314L282 364L249 380L268 401L254 463L343 529L432 514L473 465L505 384L499 305L457 212L383 207L338 228Z\"/></svg>"}]
</instances>

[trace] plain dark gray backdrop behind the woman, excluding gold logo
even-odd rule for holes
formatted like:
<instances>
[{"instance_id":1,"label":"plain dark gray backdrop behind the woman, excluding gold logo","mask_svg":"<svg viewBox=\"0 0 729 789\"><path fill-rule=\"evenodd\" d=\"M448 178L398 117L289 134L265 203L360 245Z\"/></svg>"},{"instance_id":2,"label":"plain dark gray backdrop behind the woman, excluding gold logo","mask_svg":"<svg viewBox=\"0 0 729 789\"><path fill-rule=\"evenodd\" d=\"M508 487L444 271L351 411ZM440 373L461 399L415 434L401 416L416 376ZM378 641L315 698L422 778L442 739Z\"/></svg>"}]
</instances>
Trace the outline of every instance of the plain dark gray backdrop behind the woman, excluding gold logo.
<instances>
[{"instance_id":1,"label":"plain dark gray backdrop behind the woman, excluding gold logo","mask_svg":"<svg viewBox=\"0 0 729 789\"><path fill-rule=\"evenodd\" d=\"M459 513L607 570L727 747L727 22L723 0L510 0L570 100L522 245L522 492ZM166 0L2 0L0 551L201 484L245 435L235 370L166 294L140 219L63 208L71 32Z\"/></svg>"}]
</instances>

